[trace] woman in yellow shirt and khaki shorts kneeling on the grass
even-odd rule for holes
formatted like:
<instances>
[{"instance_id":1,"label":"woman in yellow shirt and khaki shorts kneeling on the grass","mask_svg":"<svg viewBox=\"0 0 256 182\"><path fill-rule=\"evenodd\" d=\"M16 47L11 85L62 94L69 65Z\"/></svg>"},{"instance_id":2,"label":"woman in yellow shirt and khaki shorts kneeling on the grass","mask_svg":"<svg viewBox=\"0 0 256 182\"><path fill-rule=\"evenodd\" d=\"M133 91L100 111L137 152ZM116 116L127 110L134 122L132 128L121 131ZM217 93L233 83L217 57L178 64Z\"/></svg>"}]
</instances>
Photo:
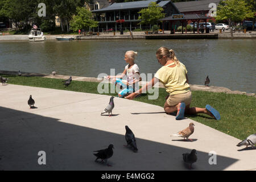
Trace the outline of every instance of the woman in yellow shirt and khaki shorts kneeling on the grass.
<instances>
[{"instance_id":1,"label":"woman in yellow shirt and khaki shorts kneeling on the grass","mask_svg":"<svg viewBox=\"0 0 256 182\"><path fill-rule=\"evenodd\" d=\"M132 100L160 80L164 84L166 92L170 94L164 104L166 113L177 111L177 120L183 119L184 113L189 115L204 113L220 120L220 113L210 105L205 106L205 108L190 107L192 95L188 84L187 69L184 64L180 63L172 49L160 47L156 51L156 59L163 67L156 72L155 77L147 85L125 98Z\"/></svg>"}]
</instances>

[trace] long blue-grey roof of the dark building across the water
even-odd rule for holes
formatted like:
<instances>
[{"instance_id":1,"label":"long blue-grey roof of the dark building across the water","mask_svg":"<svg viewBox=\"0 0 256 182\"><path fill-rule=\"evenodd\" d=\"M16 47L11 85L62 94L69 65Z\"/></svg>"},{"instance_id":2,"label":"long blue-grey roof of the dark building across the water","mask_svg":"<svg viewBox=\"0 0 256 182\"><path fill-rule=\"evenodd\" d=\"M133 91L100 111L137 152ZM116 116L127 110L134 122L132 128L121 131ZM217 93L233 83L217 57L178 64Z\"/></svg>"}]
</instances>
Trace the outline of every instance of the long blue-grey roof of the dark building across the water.
<instances>
[{"instance_id":1,"label":"long blue-grey roof of the dark building across the water","mask_svg":"<svg viewBox=\"0 0 256 182\"><path fill-rule=\"evenodd\" d=\"M94 10L92 13L100 13L105 11L114 11L114 10L126 10L126 9L142 9L148 7L151 2L157 2L158 0L147 0L147 1L133 1L133 2L121 2L113 3L112 5L105 7L100 10ZM158 3L160 7L165 6L170 1L161 1Z\"/></svg>"}]
</instances>

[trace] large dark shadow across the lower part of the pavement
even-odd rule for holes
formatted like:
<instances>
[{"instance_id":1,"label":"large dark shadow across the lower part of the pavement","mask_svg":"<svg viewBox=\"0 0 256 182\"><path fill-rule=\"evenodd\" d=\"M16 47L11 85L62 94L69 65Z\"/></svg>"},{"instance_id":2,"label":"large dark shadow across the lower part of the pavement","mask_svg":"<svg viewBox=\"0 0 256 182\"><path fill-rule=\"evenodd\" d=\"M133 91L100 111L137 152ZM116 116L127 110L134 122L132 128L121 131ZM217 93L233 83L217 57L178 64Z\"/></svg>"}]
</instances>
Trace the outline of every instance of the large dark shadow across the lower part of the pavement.
<instances>
[{"instance_id":1,"label":"large dark shadow across the lower part of the pavement","mask_svg":"<svg viewBox=\"0 0 256 182\"><path fill-rule=\"evenodd\" d=\"M0 115L0 170L187 170L182 154L193 148L137 138L134 153L123 147L125 126L120 135L6 107L0 107ZM109 144L114 145L114 155L108 159L112 167L94 162L93 151ZM222 170L237 162L218 156L217 165L210 165L208 152L195 149L198 159L192 170ZM38 164L39 151L46 152L46 165Z\"/></svg>"}]
</instances>

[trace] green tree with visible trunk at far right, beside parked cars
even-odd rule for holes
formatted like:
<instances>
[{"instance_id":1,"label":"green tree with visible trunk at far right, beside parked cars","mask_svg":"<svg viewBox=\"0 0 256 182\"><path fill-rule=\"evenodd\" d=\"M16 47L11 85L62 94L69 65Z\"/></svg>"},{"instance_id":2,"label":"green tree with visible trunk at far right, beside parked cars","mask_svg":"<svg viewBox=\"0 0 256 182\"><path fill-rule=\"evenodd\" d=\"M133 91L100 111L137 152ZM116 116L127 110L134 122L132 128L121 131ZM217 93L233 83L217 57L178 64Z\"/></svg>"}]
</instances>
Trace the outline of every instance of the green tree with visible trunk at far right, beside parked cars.
<instances>
[{"instance_id":1,"label":"green tree with visible trunk at far right, beside parked cars","mask_svg":"<svg viewBox=\"0 0 256 182\"><path fill-rule=\"evenodd\" d=\"M217 7L216 20L228 20L231 36L233 36L231 27L234 21L252 17L254 17L254 13L251 6L246 5L244 0L221 1Z\"/></svg>"}]
</instances>

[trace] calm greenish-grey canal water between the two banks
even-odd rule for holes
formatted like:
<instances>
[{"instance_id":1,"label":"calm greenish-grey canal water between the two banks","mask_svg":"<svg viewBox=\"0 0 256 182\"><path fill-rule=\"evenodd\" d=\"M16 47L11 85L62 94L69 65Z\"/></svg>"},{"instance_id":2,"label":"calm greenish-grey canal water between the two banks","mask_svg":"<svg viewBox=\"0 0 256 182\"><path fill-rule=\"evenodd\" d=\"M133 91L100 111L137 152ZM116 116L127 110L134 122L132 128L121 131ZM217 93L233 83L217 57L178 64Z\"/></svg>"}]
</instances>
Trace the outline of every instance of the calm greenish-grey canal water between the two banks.
<instances>
[{"instance_id":1,"label":"calm greenish-grey canal water between the two banks","mask_svg":"<svg viewBox=\"0 0 256 182\"><path fill-rule=\"evenodd\" d=\"M141 73L155 73L161 46L174 49L187 67L189 84L203 85L209 75L209 85L256 93L255 39L0 42L0 70L97 77L111 68L122 73L124 54L133 50Z\"/></svg>"}]
</instances>

